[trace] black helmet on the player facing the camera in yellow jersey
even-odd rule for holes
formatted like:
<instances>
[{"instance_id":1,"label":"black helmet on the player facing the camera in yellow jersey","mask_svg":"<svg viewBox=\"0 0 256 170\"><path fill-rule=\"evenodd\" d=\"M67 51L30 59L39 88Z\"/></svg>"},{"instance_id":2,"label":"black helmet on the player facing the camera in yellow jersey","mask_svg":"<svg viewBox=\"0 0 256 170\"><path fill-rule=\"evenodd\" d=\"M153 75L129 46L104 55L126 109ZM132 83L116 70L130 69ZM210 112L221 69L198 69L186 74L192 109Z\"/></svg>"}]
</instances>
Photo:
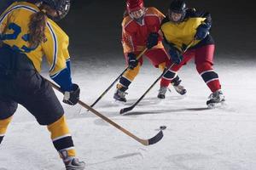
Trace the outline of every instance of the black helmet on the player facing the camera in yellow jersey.
<instances>
[{"instance_id":1,"label":"black helmet on the player facing the camera in yellow jersey","mask_svg":"<svg viewBox=\"0 0 256 170\"><path fill-rule=\"evenodd\" d=\"M170 18L171 14L176 13L176 14L182 14L181 20L178 20L178 22L183 21L186 14L186 10L187 10L187 5L183 0L173 0L168 10L169 19L172 20Z\"/></svg>"}]
</instances>

